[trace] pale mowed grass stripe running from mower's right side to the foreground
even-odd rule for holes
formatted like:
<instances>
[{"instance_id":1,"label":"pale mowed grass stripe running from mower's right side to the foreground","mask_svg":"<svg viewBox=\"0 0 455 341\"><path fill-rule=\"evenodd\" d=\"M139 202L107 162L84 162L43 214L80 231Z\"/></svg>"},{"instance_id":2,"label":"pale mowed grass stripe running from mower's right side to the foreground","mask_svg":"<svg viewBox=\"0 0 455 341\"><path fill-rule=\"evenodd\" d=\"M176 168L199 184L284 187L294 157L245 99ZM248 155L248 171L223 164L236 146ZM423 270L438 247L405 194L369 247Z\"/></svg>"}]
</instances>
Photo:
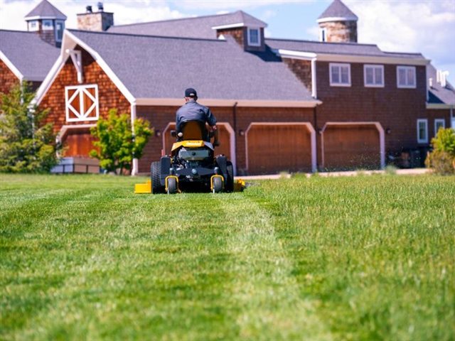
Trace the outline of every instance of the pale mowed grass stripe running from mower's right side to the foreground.
<instances>
[{"instance_id":1,"label":"pale mowed grass stripe running from mower's right side to the foreground","mask_svg":"<svg viewBox=\"0 0 455 341\"><path fill-rule=\"evenodd\" d=\"M302 300L292 261L272 217L242 193L218 197L230 223L232 305L241 340L331 340L310 300Z\"/></svg>"}]
</instances>

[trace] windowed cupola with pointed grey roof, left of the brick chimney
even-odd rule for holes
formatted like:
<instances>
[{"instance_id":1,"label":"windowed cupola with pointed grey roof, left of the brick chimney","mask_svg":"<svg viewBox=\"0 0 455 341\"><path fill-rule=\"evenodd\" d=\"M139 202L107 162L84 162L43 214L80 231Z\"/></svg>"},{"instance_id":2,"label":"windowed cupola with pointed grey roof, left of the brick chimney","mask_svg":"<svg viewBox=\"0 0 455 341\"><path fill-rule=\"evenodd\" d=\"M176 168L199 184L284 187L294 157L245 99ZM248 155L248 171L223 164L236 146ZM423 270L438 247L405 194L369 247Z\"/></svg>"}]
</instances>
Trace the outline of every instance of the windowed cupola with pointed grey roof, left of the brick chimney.
<instances>
[{"instance_id":1,"label":"windowed cupola with pointed grey roof, left of the brick chimney","mask_svg":"<svg viewBox=\"0 0 455 341\"><path fill-rule=\"evenodd\" d=\"M48 0L41 1L38 6L25 16L27 31L34 31L46 43L60 48L65 30L66 16Z\"/></svg>"}]
</instances>

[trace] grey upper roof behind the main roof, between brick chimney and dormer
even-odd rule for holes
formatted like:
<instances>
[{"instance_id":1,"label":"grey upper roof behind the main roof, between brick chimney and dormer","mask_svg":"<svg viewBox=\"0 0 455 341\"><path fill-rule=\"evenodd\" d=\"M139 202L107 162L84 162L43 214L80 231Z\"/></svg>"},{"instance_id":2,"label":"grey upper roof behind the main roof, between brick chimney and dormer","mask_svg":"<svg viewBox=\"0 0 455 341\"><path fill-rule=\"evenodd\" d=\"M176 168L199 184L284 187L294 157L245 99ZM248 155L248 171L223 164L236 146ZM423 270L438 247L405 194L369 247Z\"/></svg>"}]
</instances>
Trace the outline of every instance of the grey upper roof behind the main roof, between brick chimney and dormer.
<instances>
[{"instance_id":1,"label":"grey upper roof behind the main roof, between brick chimney and dormer","mask_svg":"<svg viewBox=\"0 0 455 341\"><path fill-rule=\"evenodd\" d=\"M225 26L243 23L243 26L267 27L267 23L243 11L219 14L215 16L198 16L149 23L133 23L129 25L111 26L111 33L144 34L149 36L207 38L215 39L214 26Z\"/></svg>"}]
</instances>

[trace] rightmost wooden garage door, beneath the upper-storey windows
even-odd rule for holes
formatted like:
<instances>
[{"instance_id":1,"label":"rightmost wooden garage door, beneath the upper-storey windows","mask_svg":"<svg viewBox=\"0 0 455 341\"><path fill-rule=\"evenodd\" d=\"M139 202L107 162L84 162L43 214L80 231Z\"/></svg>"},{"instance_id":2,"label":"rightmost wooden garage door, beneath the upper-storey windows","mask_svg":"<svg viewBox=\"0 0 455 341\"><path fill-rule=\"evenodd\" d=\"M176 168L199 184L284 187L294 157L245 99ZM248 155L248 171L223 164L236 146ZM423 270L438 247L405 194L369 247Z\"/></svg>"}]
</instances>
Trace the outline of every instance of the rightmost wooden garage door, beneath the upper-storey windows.
<instances>
[{"instance_id":1,"label":"rightmost wooden garage door, beneath the upper-storey windows","mask_svg":"<svg viewBox=\"0 0 455 341\"><path fill-rule=\"evenodd\" d=\"M328 125L323 132L324 168L380 168L380 135L374 124Z\"/></svg>"}]
</instances>

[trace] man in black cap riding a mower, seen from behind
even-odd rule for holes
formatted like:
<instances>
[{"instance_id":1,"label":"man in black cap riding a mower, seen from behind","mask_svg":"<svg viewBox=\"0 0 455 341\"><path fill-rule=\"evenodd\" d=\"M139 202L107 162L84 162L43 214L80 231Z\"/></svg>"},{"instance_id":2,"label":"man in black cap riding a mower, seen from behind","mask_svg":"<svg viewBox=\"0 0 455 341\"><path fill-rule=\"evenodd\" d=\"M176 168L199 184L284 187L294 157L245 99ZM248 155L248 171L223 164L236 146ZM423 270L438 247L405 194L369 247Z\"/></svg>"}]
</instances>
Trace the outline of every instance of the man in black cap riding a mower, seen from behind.
<instances>
[{"instance_id":1,"label":"man in black cap riding a mower, seen from behind","mask_svg":"<svg viewBox=\"0 0 455 341\"><path fill-rule=\"evenodd\" d=\"M152 193L234 190L232 163L224 155L215 156L214 146L219 145L216 119L210 109L196 102L197 98L196 90L185 91L186 104L176 114L177 130L171 131L177 139L171 155L151 163ZM212 131L206 129L206 122Z\"/></svg>"}]
</instances>

